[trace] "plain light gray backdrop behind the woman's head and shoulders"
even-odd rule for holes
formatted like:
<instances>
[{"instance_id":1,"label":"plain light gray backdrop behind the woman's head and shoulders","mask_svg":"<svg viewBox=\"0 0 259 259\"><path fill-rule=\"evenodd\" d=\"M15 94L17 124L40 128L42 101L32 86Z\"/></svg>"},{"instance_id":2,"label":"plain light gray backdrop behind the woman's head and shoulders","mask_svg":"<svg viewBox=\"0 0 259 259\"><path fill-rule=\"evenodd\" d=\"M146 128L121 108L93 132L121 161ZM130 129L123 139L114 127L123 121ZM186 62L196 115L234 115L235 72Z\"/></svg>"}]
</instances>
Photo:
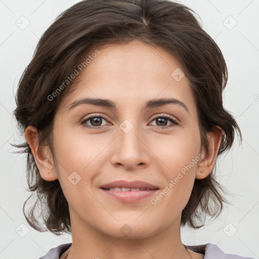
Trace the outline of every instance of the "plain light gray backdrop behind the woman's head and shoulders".
<instances>
[{"instance_id":1,"label":"plain light gray backdrop behind the woman's head and shoulders","mask_svg":"<svg viewBox=\"0 0 259 259\"><path fill-rule=\"evenodd\" d=\"M22 213L23 203L30 195L25 191L25 156L12 154L15 149L10 143L23 140L12 116L18 80L30 62L42 33L57 15L77 2L0 0L1 259L36 259L59 244L71 242L70 235L57 237L48 232L40 233L27 224ZM236 140L234 148L218 165L218 179L233 193L229 201L234 206L226 207L221 216L206 227L196 231L183 229L182 241L187 245L217 244L226 253L258 258L259 1L178 2L197 12L204 30L217 42L225 56L229 81L224 103L243 134L243 144L238 146ZM26 19L21 16L29 21L23 29L16 24L26 25ZM237 24L233 27L235 21ZM27 234L26 229L29 230Z\"/></svg>"}]
</instances>

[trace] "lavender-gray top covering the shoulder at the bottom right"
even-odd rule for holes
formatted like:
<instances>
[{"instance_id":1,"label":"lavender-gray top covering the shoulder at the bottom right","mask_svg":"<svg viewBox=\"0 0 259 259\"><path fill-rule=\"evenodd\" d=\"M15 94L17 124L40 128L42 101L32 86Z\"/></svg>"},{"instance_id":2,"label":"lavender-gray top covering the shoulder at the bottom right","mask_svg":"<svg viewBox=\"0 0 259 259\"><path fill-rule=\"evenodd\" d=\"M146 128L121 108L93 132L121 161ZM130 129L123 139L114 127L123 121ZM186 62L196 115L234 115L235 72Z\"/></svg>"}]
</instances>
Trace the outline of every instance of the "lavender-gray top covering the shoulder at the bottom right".
<instances>
[{"instance_id":1,"label":"lavender-gray top covering the shoulder at the bottom right","mask_svg":"<svg viewBox=\"0 0 259 259\"><path fill-rule=\"evenodd\" d=\"M211 243L202 245L185 245L188 249L204 254L204 259L255 259L252 257L244 257L237 254L223 252L219 246Z\"/></svg>"}]
</instances>

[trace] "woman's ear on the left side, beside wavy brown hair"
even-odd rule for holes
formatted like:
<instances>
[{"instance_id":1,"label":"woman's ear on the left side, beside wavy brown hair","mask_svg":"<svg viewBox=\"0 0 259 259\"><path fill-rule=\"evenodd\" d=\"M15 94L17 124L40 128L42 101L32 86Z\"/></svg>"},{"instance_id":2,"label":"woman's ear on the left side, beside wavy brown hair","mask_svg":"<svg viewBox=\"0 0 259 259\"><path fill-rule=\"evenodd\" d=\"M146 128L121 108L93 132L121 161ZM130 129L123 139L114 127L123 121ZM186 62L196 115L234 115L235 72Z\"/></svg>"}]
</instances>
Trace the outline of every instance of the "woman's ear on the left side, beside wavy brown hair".
<instances>
[{"instance_id":1,"label":"woman's ear on the left side, beside wavy brown hair","mask_svg":"<svg viewBox=\"0 0 259 259\"><path fill-rule=\"evenodd\" d=\"M37 128L28 126L24 132L24 136L30 146L41 178L46 181L54 181L58 179L58 174L49 146L39 145Z\"/></svg>"}]
</instances>

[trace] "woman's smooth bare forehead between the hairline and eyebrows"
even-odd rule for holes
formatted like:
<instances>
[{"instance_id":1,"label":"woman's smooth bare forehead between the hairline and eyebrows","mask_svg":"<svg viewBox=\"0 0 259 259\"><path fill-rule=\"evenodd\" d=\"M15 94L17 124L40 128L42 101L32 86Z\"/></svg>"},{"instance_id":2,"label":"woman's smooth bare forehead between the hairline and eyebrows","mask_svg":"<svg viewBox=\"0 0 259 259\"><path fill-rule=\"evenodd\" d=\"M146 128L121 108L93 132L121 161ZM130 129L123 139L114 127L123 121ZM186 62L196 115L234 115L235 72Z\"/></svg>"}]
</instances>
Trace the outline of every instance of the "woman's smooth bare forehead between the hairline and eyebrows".
<instances>
[{"instance_id":1,"label":"woman's smooth bare forehead between the hairline and eyebrows","mask_svg":"<svg viewBox=\"0 0 259 259\"><path fill-rule=\"evenodd\" d=\"M87 65L75 78L75 91L62 101L67 108L79 97L109 99L120 107L171 97L194 108L189 79L177 60L159 47L140 40L106 44L93 48L83 61Z\"/></svg>"}]
</instances>

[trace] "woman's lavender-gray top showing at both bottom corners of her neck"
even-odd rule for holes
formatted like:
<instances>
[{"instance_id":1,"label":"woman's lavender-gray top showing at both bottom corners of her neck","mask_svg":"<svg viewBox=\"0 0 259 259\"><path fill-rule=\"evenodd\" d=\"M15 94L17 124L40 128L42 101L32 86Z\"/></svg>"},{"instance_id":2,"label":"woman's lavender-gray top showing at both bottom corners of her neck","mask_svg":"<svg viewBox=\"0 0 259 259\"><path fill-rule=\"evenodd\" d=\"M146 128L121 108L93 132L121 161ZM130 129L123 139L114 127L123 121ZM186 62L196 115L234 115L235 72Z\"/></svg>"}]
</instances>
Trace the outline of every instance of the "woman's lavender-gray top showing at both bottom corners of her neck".
<instances>
[{"instance_id":1,"label":"woman's lavender-gray top showing at both bottom corners of her neck","mask_svg":"<svg viewBox=\"0 0 259 259\"><path fill-rule=\"evenodd\" d=\"M59 259L72 243L61 244L49 250L49 252L39 259ZM204 259L255 259L252 257L243 257L236 254L224 253L217 245L203 244L203 245L184 245L186 248L204 254Z\"/></svg>"}]
</instances>

